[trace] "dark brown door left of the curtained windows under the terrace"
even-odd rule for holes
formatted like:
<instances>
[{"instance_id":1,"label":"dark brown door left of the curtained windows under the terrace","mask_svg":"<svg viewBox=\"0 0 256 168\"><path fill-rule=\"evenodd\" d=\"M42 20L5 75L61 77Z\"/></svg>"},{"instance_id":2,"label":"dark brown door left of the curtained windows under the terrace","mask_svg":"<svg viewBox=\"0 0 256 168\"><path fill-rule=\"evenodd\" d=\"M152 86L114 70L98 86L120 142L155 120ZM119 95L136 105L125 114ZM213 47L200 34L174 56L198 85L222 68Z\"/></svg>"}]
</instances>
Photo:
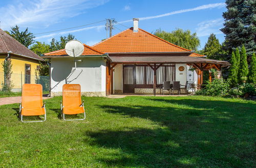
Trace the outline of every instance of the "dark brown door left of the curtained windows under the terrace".
<instances>
[{"instance_id":1,"label":"dark brown door left of the curtained windows under the terrace","mask_svg":"<svg viewBox=\"0 0 256 168\"><path fill-rule=\"evenodd\" d=\"M135 68L134 66L123 67L123 93L134 93Z\"/></svg>"}]
</instances>

